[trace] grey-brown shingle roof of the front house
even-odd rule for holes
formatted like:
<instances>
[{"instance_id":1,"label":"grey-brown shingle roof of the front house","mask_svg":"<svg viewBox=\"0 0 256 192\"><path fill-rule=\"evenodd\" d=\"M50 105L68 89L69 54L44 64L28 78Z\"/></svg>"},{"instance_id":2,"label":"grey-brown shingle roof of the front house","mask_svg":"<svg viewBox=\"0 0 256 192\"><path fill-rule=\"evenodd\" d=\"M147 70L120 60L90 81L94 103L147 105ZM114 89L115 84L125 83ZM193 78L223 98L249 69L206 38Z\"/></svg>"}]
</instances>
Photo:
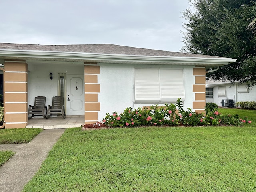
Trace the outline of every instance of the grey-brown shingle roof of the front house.
<instances>
[{"instance_id":1,"label":"grey-brown shingle roof of the front house","mask_svg":"<svg viewBox=\"0 0 256 192\"><path fill-rule=\"evenodd\" d=\"M139 56L220 58L216 56L208 56L208 55L201 55L201 54L188 54L188 53L180 53L180 52L120 46L120 45L113 45L113 44L40 45L40 44L0 43L0 49L53 51L53 52L80 52L80 53L94 53L94 54L118 54L118 55L139 55Z\"/></svg>"}]
</instances>

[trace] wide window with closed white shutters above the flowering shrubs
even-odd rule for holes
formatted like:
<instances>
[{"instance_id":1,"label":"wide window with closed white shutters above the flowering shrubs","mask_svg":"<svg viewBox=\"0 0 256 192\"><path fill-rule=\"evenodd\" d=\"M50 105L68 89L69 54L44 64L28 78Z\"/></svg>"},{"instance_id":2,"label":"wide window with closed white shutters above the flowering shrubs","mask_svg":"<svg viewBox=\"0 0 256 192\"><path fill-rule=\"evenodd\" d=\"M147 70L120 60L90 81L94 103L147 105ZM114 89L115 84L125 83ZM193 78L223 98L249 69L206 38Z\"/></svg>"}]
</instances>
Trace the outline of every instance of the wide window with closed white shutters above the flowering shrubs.
<instances>
[{"instance_id":1,"label":"wide window with closed white shutters above the flowering shrubs","mask_svg":"<svg viewBox=\"0 0 256 192\"><path fill-rule=\"evenodd\" d=\"M134 69L135 103L174 103L185 99L182 69Z\"/></svg>"}]
</instances>

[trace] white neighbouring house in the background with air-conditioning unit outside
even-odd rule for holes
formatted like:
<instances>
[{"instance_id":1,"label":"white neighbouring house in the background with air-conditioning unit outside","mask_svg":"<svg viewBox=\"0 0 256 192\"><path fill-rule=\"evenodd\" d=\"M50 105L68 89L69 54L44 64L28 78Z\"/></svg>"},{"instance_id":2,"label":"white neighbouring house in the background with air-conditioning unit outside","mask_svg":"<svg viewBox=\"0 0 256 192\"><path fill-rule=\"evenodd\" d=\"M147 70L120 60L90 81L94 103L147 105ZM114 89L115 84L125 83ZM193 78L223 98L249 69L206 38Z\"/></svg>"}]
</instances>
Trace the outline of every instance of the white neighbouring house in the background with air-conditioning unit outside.
<instances>
[{"instance_id":1,"label":"white neighbouring house in the background with air-conditioning unit outside","mask_svg":"<svg viewBox=\"0 0 256 192\"><path fill-rule=\"evenodd\" d=\"M206 102L234 107L238 101L254 101L256 89L239 82L206 81Z\"/></svg>"}]
</instances>

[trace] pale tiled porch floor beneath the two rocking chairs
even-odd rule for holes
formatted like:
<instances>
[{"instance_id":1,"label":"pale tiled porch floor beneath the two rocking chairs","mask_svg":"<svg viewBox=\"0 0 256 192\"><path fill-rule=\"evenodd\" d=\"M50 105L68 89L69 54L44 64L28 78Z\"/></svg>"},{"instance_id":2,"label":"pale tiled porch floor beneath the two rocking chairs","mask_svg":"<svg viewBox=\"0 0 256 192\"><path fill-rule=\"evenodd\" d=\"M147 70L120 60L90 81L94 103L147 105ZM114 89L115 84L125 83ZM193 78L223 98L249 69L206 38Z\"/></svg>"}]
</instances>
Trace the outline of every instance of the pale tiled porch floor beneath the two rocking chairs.
<instances>
[{"instance_id":1,"label":"pale tiled porch floor beneath the two rocking chairs","mask_svg":"<svg viewBox=\"0 0 256 192\"><path fill-rule=\"evenodd\" d=\"M84 115L66 116L65 119L62 116L52 116L49 119L43 117L29 119L26 128L63 129L82 125L84 125Z\"/></svg>"}]
</instances>

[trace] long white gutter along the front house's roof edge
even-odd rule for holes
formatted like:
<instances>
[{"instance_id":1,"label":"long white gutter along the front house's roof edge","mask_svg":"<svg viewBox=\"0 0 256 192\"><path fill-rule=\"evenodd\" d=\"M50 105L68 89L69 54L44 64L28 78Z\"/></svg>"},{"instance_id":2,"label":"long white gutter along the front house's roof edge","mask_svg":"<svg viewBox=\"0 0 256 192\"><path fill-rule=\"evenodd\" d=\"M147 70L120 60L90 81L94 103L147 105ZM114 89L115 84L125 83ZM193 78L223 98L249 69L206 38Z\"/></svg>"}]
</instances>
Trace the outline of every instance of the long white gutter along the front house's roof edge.
<instances>
[{"instance_id":1,"label":"long white gutter along the front house's roof edge","mask_svg":"<svg viewBox=\"0 0 256 192\"><path fill-rule=\"evenodd\" d=\"M130 62L173 62L188 64L215 64L226 65L236 62L231 58L214 57L177 57L177 56L138 56L121 54L98 54L82 52L53 52L34 50L6 50L0 49L0 57L15 58L55 58L55 59L78 59L78 60L104 60L104 61L130 61Z\"/></svg>"}]
</instances>

